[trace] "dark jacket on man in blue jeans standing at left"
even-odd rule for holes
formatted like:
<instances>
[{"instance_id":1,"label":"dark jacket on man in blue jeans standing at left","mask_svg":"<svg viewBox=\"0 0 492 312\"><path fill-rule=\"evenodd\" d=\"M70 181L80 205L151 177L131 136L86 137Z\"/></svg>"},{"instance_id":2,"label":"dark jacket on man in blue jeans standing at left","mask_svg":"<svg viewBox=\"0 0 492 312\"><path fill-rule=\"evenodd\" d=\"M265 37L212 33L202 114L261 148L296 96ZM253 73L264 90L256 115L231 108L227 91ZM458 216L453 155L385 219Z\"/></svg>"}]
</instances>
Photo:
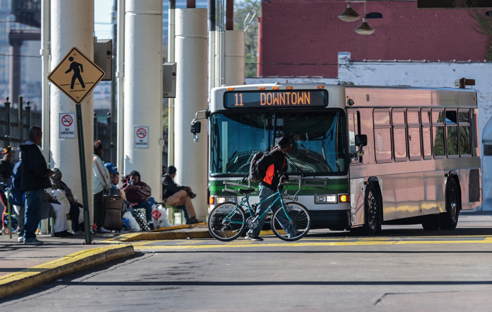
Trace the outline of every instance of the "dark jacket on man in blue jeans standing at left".
<instances>
[{"instance_id":1,"label":"dark jacket on man in blue jeans standing at left","mask_svg":"<svg viewBox=\"0 0 492 312\"><path fill-rule=\"evenodd\" d=\"M36 144L21 144L22 152L22 190L35 191L51 187L50 169Z\"/></svg>"}]
</instances>

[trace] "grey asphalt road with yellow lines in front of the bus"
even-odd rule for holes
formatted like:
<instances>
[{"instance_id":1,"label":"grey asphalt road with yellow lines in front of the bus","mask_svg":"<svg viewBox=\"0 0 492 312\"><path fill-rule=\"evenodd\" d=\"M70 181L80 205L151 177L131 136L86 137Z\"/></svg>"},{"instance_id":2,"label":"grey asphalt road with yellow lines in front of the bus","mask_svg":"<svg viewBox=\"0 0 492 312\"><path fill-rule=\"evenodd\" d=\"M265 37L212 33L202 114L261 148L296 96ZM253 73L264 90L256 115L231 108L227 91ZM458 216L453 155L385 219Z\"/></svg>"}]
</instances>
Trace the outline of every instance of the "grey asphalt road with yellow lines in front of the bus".
<instances>
[{"instance_id":1,"label":"grey asphalt road with yellow lines in front of the bus","mask_svg":"<svg viewBox=\"0 0 492 312\"><path fill-rule=\"evenodd\" d=\"M0 301L35 311L490 311L492 215L455 231L383 227L267 237L141 241L137 256Z\"/></svg>"}]
</instances>

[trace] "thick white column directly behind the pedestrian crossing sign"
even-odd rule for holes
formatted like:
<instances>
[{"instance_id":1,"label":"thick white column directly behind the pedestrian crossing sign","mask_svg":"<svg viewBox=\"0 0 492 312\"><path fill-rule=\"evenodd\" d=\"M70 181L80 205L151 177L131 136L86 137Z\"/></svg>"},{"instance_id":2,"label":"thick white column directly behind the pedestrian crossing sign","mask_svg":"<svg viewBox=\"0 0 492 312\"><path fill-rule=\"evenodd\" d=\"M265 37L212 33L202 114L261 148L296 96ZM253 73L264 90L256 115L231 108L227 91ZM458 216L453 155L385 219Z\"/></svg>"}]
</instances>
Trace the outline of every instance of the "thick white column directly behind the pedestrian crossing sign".
<instances>
[{"instance_id":1,"label":"thick white column directly behind the pedestrian crossing sign","mask_svg":"<svg viewBox=\"0 0 492 312\"><path fill-rule=\"evenodd\" d=\"M76 47L87 57L94 56L94 1L51 0L51 70ZM59 168L63 181L82 201L78 139L59 139L59 114L75 113L75 103L51 85L50 96L50 168ZM84 149L91 224L93 220L92 155L94 151L94 101L92 93L80 103L84 126ZM74 121L75 122L75 121ZM48 135L48 133L44 133ZM104 156L103 156L104 158Z\"/></svg>"}]
</instances>

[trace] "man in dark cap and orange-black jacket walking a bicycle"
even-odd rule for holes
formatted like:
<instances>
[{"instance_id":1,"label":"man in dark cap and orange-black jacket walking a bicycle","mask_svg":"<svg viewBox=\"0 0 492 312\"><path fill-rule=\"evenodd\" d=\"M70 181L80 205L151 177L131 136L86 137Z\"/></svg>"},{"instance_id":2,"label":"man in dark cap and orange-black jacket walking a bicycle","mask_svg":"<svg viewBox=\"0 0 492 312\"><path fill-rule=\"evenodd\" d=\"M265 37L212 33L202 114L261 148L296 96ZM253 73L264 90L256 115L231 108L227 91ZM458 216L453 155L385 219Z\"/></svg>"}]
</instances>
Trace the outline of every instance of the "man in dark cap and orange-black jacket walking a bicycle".
<instances>
[{"instance_id":1,"label":"man in dark cap and orange-black jacket walking a bicycle","mask_svg":"<svg viewBox=\"0 0 492 312\"><path fill-rule=\"evenodd\" d=\"M277 146L274 146L258 162L258 171L264 173L263 180L261 180L259 183L259 202L277 192L277 185L280 182L280 177L277 172L280 172L280 174L284 174L287 172L289 166L287 165L285 154L288 153L291 148L291 140L286 137L280 137L277 139ZM256 213L262 214L263 211L267 210L268 207L272 204L272 200L273 198L267 200L261 205L258 205L258 208L256 208ZM275 208L277 208L279 205L280 202L275 203L275 205L272 207L272 210L274 211ZM263 224L266 218L267 214L260 218L258 220L258 226L253 230L249 230L245 238L253 241L262 241L263 238L259 237L258 235L263 228Z\"/></svg>"}]
</instances>

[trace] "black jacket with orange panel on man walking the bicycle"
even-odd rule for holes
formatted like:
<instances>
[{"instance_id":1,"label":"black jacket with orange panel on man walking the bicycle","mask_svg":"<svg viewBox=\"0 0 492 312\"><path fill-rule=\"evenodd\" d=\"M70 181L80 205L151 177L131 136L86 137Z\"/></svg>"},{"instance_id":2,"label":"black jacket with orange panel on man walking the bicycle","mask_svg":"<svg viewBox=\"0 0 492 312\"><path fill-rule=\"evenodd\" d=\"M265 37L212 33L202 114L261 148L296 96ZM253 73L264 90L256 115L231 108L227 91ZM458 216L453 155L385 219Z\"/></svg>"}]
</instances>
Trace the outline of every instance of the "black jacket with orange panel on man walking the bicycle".
<instances>
[{"instance_id":1,"label":"black jacket with orange panel on man walking the bicycle","mask_svg":"<svg viewBox=\"0 0 492 312\"><path fill-rule=\"evenodd\" d=\"M258 162L258 171L264 174L260 184L276 191L280 178L277 171L280 173L287 172L289 166L285 159L285 154L278 147L273 147L266 155Z\"/></svg>"}]
</instances>

